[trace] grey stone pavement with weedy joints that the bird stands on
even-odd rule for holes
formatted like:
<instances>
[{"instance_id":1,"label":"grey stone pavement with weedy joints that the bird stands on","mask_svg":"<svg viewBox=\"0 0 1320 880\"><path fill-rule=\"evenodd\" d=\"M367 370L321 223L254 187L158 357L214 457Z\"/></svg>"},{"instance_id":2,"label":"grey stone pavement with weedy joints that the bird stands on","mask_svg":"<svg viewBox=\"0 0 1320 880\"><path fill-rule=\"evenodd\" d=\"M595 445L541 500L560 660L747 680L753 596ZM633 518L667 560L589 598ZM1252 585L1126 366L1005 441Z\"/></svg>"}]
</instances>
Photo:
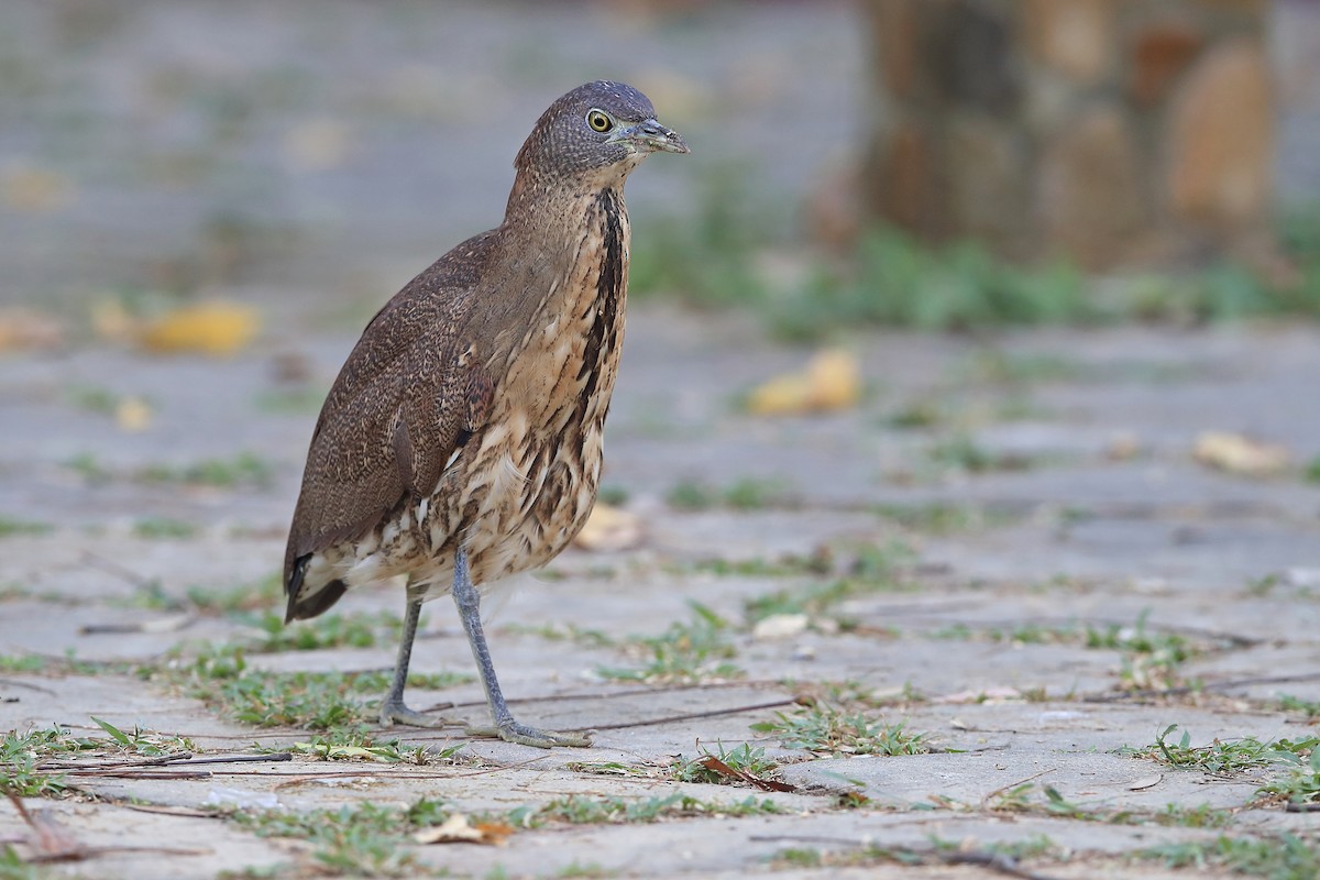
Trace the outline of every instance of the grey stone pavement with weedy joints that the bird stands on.
<instances>
[{"instance_id":1,"label":"grey stone pavement with weedy joints that the bird stands on","mask_svg":"<svg viewBox=\"0 0 1320 880\"><path fill-rule=\"evenodd\" d=\"M269 575L317 393L351 342L308 332L232 360L92 346L4 361L0 730L59 724L96 740L50 759L83 767L65 777L77 797L25 802L78 844L110 847L36 876L312 876L348 871L334 859L355 854L397 876L973 877L994 865L958 858L1001 852L1035 876L1150 877L1181 876L1137 858L1152 847L1286 831L1315 846L1307 814L1258 794L1286 767L1208 764L1224 753L1216 740L1316 735L1313 329L865 335L857 408L768 418L741 396L809 352L738 319L635 309L605 483L639 540L572 550L487 603L521 716L595 728L595 747L368 724L370 744L399 739L403 760L389 761L306 752L317 736L347 743L351 724L236 720L223 668L193 665L206 644L246 646L246 681L342 681L392 661L380 629L401 611L397 587L347 596L338 636L300 624L313 649L260 625L280 604ZM150 429L117 430L92 389L145 394ZM1292 463L1214 470L1191 455L1206 430L1280 445ZM432 678L412 699L480 720L451 606L425 620L413 672ZM354 621L367 633L356 643L343 635ZM209 699L190 669L213 676ZM116 747L94 719L139 745ZM1183 731L1210 747L1181 752L1201 765L1147 753L1171 724L1172 747ZM198 759L294 755L107 774L106 761L149 755L143 736L186 738ZM787 790L676 778L708 752L734 763L744 743L777 764L751 774ZM680 793L685 805L664 806ZM463 814L511 834L422 846L400 819L372 860L370 842L259 836L234 818L366 803L403 815L422 798L441 813L416 825ZM648 809L660 818L643 821ZM37 852L12 805L0 839Z\"/></svg>"}]
</instances>

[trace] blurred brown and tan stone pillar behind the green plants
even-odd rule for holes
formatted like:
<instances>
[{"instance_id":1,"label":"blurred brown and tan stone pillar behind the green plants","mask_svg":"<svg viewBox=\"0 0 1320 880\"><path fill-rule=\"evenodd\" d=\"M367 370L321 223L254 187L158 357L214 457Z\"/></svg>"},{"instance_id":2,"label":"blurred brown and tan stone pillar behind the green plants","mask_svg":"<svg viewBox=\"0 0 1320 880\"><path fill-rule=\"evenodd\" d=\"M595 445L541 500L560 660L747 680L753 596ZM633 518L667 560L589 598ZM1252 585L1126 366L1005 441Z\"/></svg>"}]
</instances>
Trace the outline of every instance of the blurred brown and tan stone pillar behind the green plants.
<instances>
[{"instance_id":1,"label":"blurred brown and tan stone pillar behind the green plants","mask_svg":"<svg viewBox=\"0 0 1320 880\"><path fill-rule=\"evenodd\" d=\"M863 0L863 214L1012 257L1170 264L1261 249L1266 0Z\"/></svg>"}]
</instances>

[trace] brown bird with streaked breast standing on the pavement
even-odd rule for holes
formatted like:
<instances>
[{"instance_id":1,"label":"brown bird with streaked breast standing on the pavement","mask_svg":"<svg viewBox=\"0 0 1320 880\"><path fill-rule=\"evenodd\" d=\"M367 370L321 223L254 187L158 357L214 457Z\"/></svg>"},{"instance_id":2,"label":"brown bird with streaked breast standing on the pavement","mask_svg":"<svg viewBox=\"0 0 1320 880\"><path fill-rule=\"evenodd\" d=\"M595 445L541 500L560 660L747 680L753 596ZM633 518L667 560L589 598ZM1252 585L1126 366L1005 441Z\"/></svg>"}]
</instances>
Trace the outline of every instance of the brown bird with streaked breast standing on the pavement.
<instances>
[{"instance_id":1,"label":"brown bird with streaked breast standing on the pavement","mask_svg":"<svg viewBox=\"0 0 1320 880\"><path fill-rule=\"evenodd\" d=\"M395 294L326 396L285 550L285 623L407 575L384 726L441 724L404 687L421 604L449 592L492 722L469 734L591 744L513 718L480 598L554 558L595 503L628 285L623 185L656 152L689 149L636 88L597 80L554 100L513 161L503 222Z\"/></svg>"}]
</instances>

